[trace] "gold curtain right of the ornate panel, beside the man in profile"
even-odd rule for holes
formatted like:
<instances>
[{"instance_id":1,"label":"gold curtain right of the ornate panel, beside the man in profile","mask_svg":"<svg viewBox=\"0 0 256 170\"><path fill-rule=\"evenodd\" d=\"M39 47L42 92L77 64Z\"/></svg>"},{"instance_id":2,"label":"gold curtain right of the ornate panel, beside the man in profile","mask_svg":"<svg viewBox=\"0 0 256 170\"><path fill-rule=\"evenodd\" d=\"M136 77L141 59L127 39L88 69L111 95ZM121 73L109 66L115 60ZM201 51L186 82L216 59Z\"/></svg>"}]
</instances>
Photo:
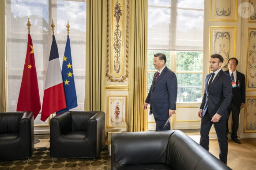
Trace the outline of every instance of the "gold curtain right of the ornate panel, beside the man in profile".
<instances>
[{"instance_id":1,"label":"gold curtain right of the ornate panel, beside the man in profile","mask_svg":"<svg viewBox=\"0 0 256 170\"><path fill-rule=\"evenodd\" d=\"M130 0L128 131L147 131L147 0Z\"/></svg>"}]
</instances>

